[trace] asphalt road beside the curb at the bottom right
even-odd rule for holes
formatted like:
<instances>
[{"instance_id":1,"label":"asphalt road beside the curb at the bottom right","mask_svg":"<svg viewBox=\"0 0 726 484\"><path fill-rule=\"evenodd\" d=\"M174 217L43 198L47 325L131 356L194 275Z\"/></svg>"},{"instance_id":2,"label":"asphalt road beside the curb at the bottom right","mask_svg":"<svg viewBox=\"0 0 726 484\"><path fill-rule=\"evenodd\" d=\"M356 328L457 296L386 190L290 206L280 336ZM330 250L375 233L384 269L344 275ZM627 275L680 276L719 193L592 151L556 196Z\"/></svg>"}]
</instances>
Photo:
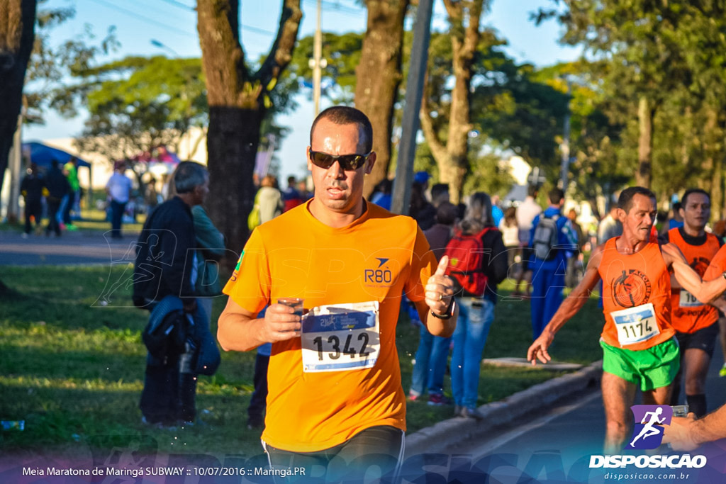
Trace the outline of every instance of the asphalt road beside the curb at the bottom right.
<instances>
[{"instance_id":1,"label":"asphalt road beside the curb at the bottom right","mask_svg":"<svg viewBox=\"0 0 726 484\"><path fill-rule=\"evenodd\" d=\"M723 361L717 344L706 382L709 411L726 402L726 377L718 376ZM685 403L684 396L680 403ZM534 414L526 422L443 449L441 455L445 459L441 458L436 467L427 469L445 476L449 483L482 483L485 480L489 483L726 482L726 440L690 453L707 456L708 464L702 469L639 469L635 466L590 469L591 456L603 454L604 437L602 395L596 390ZM661 448L657 453L667 451ZM629 453L623 451L622 454Z\"/></svg>"}]
</instances>

